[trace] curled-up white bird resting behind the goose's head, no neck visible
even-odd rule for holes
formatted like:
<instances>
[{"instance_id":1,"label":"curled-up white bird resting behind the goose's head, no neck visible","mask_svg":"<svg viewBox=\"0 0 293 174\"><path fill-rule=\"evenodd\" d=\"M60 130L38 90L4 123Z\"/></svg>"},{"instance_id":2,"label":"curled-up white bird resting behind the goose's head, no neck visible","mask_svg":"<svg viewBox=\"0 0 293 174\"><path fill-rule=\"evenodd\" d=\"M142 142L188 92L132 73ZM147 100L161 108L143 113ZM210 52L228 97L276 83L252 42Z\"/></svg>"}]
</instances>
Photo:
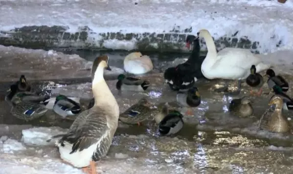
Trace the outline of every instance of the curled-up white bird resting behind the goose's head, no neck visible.
<instances>
[{"instance_id":1,"label":"curled-up white bird resting behind the goose's head, no neck visible","mask_svg":"<svg viewBox=\"0 0 293 174\"><path fill-rule=\"evenodd\" d=\"M139 75L145 74L153 70L152 60L147 55L142 55L140 52L132 52L124 59L124 70L127 73Z\"/></svg>"}]
</instances>

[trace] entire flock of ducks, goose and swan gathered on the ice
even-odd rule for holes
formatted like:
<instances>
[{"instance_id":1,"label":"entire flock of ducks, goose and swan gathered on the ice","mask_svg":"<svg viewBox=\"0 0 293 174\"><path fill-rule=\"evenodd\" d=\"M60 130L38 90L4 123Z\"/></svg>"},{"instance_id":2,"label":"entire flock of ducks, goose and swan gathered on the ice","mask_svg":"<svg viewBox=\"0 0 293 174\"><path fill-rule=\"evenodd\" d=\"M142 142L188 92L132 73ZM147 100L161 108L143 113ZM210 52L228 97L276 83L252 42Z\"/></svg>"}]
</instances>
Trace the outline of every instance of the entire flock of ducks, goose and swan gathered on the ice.
<instances>
[{"instance_id":1,"label":"entire flock of ducks, goose and swan gathered on the ice","mask_svg":"<svg viewBox=\"0 0 293 174\"><path fill-rule=\"evenodd\" d=\"M200 57L200 38L204 39L208 50L207 55L203 58ZM263 63L249 50L236 48L216 50L210 33L205 29L200 30L196 35L186 37L186 48L191 49L191 45L193 49L188 60L176 67L166 69L163 77L170 89L177 92L176 101L182 107L187 108L185 113L172 108L168 102L159 103L154 107L155 105L146 97L120 113L117 101L103 77L104 70L111 71L107 55L99 56L93 62L91 69L93 98L86 110L81 109L78 101L65 95L52 98L33 92L24 75L21 75L19 81L10 86L5 100L11 106L10 113L25 121L38 119L44 116L49 109L62 118L75 116L67 133L55 135L47 141L57 139L55 144L61 158L89 174L96 174L95 162L107 155L118 121L139 126L152 115L158 124L160 135L177 134L184 125L183 118L193 115L192 108L201 104L200 91L204 89L198 89L195 84L202 79L222 79L225 81L225 86L216 89L215 92L227 95L239 95L241 83L245 81L250 87L250 96L261 96L263 85L267 83L273 93L268 105L274 107L270 107L263 114L262 125L264 126L261 128L266 128L271 132L292 134L292 125L282 112L293 110L293 99L286 94L289 84L281 75L275 75L270 65ZM134 61L134 58L129 57L128 60ZM139 54L139 57L143 56ZM145 62L149 63L149 60ZM135 65L137 64L136 61ZM147 71L153 69L152 66L152 64L148 66ZM132 63L128 62L127 67L131 69ZM259 73L261 71L266 71L267 81ZM135 72L141 74L144 71L140 71L136 67ZM236 91L228 90L227 80L238 82ZM119 92L144 92L150 86L151 83L148 80L123 74L118 75L116 82L116 89ZM48 106L50 102L53 103L51 108ZM241 118L250 117L253 115L253 101L248 96L233 99L229 103L228 110Z\"/></svg>"}]
</instances>

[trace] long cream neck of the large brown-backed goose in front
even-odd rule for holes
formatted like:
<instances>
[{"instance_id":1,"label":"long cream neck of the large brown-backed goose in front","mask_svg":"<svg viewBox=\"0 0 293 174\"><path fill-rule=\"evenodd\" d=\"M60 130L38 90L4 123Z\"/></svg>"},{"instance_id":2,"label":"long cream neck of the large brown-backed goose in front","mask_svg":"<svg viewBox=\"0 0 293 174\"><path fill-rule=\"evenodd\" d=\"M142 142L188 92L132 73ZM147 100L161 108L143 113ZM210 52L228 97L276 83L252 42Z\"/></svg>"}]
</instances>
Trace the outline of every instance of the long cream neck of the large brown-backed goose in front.
<instances>
[{"instance_id":1,"label":"long cream neck of the large brown-backed goose in front","mask_svg":"<svg viewBox=\"0 0 293 174\"><path fill-rule=\"evenodd\" d=\"M94 78L92 80L92 93L94 96L95 105L103 107L114 107L114 112L117 117L119 116L119 108L116 99L114 98L111 90L109 89L105 79L104 79L104 68L97 67L95 71Z\"/></svg>"}]
</instances>

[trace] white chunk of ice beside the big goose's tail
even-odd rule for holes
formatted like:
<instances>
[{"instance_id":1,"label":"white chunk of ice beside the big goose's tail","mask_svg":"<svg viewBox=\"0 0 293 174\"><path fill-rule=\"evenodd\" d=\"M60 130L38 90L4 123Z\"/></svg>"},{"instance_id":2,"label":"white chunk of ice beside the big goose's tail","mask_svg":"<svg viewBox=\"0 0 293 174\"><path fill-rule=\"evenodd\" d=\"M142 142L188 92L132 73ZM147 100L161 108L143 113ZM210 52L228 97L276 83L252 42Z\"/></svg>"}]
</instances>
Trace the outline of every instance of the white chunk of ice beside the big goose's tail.
<instances>
[{"instance_id":1,"label":"white chunk of ice beside the big goose's tail","mask_svg":"<svg viewBox=\"0 0 293 174\"><path fill-rule=\"evenodd\" d=\"M49 143L46 140L50 139L51 136L66 133L66 131L60 132L60 128L57 127L34 127L30 129L24 129L22 141L27 145L49 145L54 144L54 141Z\"/></svg>"}]
</instances>

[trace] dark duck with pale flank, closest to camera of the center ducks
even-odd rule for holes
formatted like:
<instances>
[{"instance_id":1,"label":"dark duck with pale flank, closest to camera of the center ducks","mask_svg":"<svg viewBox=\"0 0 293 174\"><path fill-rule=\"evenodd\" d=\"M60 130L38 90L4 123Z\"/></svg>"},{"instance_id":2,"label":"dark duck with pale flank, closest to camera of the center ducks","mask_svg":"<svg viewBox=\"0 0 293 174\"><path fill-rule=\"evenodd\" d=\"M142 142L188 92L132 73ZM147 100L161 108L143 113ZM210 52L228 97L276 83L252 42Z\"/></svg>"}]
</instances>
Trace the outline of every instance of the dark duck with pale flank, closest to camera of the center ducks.
<instances>
[{"instance_id":1,"label":"dark duck with pale flank, closest to camera of the center ducks","mask_svg":"<svg viewBox=\"0 0 293 174\"><path fill-rule=\"evenodd\" d=\"M161 135L176 134L183 127L183 116L176 110L170 110L169 114L159 123L158 130Z\"/></svg>"}]
</instances>

